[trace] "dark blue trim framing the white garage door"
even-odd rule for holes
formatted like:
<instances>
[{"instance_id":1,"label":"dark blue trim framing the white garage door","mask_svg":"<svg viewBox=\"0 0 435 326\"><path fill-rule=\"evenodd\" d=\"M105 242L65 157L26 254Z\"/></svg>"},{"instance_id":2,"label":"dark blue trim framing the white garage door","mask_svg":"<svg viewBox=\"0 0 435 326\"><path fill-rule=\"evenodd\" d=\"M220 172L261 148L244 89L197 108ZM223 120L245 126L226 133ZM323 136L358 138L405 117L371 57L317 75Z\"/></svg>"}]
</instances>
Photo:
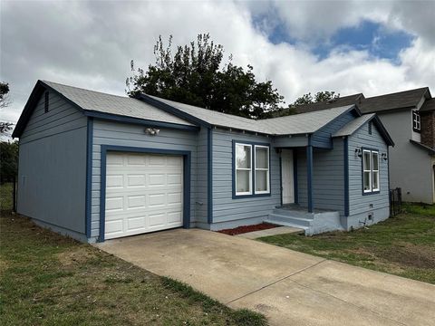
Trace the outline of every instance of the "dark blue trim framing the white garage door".
<instances>
[{"instance_id":1,"label":"dark blue trim framing the white garage door","mask_svg":"<svg viewBox=\"0 0 435 326\"><path fill-rule=\"evenodd\" d=\"M184 189L183 189L183 227L189 228L190 224L190 170L191 170L191 153L188 150L175 149L148 149L127 146L102 145L102 166L101 166L101 196L100 196L100 236L98 242L104 242L104 223L106 213L106 158L108 151L122 151L132 153L150 153L150 154L167 154L182 155L184 166Z\"/></svg>"}]
</instances>

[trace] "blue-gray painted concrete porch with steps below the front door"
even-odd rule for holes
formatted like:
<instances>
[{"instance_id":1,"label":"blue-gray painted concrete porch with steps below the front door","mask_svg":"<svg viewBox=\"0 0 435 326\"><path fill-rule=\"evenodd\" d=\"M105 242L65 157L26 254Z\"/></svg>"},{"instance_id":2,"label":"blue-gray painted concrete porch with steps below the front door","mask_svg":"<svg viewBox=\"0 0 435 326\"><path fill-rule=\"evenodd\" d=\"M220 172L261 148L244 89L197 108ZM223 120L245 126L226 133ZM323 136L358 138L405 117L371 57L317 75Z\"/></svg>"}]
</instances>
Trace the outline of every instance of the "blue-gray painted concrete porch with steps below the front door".
<instances>
[{"instance_id":1,"label":"blue-gray painted concrete porch with steps below the front door","mask_svg":"<svg viewBox=\"0 0 435 326\"><path fill-rule=\"evenodd\" d=\"M305 235L343 230L339 212L323 209L313 209L313 212L309 212L307 207L295 204L276 207L267 216L266 222L302 228Z\"/></svg>"}]
</instances>

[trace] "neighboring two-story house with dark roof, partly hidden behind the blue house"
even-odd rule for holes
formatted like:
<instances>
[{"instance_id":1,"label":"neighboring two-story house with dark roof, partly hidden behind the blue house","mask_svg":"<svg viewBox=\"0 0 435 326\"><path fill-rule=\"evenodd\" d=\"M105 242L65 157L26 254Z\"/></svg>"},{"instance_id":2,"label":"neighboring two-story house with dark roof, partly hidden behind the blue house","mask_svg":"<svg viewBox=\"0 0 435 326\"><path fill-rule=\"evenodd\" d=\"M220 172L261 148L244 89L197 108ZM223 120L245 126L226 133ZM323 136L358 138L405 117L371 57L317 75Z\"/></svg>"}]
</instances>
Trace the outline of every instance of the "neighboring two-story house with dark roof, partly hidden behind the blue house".
<instances>
[{"instance_id":1,"label":"neighboring two-story house with dark roof, partly hidden behind the blue house","mask_svg":"<svg viewBox=\"0 0 435 326\"><path fill-rule=\"evenodd\" d=\"M435 203L435 99L429 88L365 98L354 94L296 108L298 113L355 104L376 113L395 146L390 151L390 187L401 187L405 201Z\"/></svg>"}]
</instances>

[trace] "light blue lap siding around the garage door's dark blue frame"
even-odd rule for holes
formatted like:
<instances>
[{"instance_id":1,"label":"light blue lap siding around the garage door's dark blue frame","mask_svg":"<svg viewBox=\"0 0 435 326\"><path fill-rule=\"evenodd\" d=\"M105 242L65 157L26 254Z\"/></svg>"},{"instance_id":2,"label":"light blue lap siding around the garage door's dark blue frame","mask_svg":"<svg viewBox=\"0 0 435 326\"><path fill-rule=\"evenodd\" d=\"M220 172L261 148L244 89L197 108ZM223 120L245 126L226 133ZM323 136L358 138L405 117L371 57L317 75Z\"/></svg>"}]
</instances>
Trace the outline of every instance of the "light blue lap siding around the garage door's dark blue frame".
<instances>
[{"instance_id":1,"label":"light blue lap siding around the garage door's dark blue frame","mask_svg":"<svg viewBox=\"0 0 435 326\"><path fill-rule=\"evenodd\" d=\"M150 136L139 125L94 120L92 146L92 225L91 236L100 233L100 186L101 186L101 145L127 146L149 149L189 150L191 152L191 180L190 180L190 221L196 222L197 210L197 133L176 129L160 129L159 136ZM207 133L207 131L206 131ZM201 155L203 149L200 142ZM203 168L200 166L200 168ZM202 176L202 174L201 174ZM201 178L200 185L204 182ZM200 188L202 191L202 187ZM207 193L206 193L207 194ZM207 200L205 201L207 202ZM205 203L204 203L205 204ZM203 207L198 210L202 214ZM206 217L207 218L207 217ZM201 220L204 220L202 217Z\"/></svg>"}]
</instances>

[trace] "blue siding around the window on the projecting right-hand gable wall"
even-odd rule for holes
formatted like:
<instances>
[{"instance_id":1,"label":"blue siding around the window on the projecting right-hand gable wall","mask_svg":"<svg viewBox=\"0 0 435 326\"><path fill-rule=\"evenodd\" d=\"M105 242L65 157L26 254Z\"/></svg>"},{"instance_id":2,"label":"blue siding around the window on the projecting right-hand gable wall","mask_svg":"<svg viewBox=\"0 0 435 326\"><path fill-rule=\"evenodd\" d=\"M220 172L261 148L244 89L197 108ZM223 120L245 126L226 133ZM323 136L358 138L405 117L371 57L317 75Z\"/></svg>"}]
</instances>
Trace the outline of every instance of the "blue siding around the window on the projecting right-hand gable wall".
<instances>
[{"instance_id":1,"label":"blue siding around the window on the projecting right-hand gable wall","mask_svg":"<svg viewBox=\"0 0 435 326\"><path fill-rule=\"evenodd\" d=\"M379 194L362 195L362 158L355 154L355 149L362 147L379 150ZM382 153L387 153L387 145L374 124L372 135L369 135L368 123L366 123L349 136L349 216L368 214L390 206L388 161L381 158Z\"/></svg>"}]
</instances>

